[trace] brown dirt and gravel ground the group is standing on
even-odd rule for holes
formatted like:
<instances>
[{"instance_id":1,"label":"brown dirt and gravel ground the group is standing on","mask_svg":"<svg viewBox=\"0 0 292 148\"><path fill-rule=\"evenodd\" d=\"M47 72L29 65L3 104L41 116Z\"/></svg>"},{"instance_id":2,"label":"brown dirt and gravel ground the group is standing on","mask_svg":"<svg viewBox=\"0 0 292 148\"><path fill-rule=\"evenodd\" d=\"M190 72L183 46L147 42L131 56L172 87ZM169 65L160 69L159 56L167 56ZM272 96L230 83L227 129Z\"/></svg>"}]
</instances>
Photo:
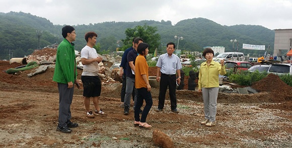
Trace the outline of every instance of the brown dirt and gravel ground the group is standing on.
<instances>
[{"instance_id":1,"label":"brown dirt and gravel ground the group is standing on","mask_svg":"<svg viewBox=\"0 0 292 148\"><path fill-rule=\"evenodd\" d=\"M79 127L66 134L56 131L54 69L33 77L27 74L34 69L18 75L4 72L18 66L0 61L0 147L159 147L153 140L155 129L167 134L175 147L292 147L291 87L273 74L252 85L260 93L219 93L213 127L200 124L202 96L186 90L187 77L185 89L177 91L178 114L170 111L168 94L163 112L155 112L159 88L153 88L154 104L147 118L151 129L133 125L132 108L124 115L119 107L121 84L104 79L100 105L106 115L86 117L83 90L75 88L71 120ZM149 71L150 76L156 73L155 68ZM78 69L79 80L81 73Z\"/></svg>"}]
</instances>

